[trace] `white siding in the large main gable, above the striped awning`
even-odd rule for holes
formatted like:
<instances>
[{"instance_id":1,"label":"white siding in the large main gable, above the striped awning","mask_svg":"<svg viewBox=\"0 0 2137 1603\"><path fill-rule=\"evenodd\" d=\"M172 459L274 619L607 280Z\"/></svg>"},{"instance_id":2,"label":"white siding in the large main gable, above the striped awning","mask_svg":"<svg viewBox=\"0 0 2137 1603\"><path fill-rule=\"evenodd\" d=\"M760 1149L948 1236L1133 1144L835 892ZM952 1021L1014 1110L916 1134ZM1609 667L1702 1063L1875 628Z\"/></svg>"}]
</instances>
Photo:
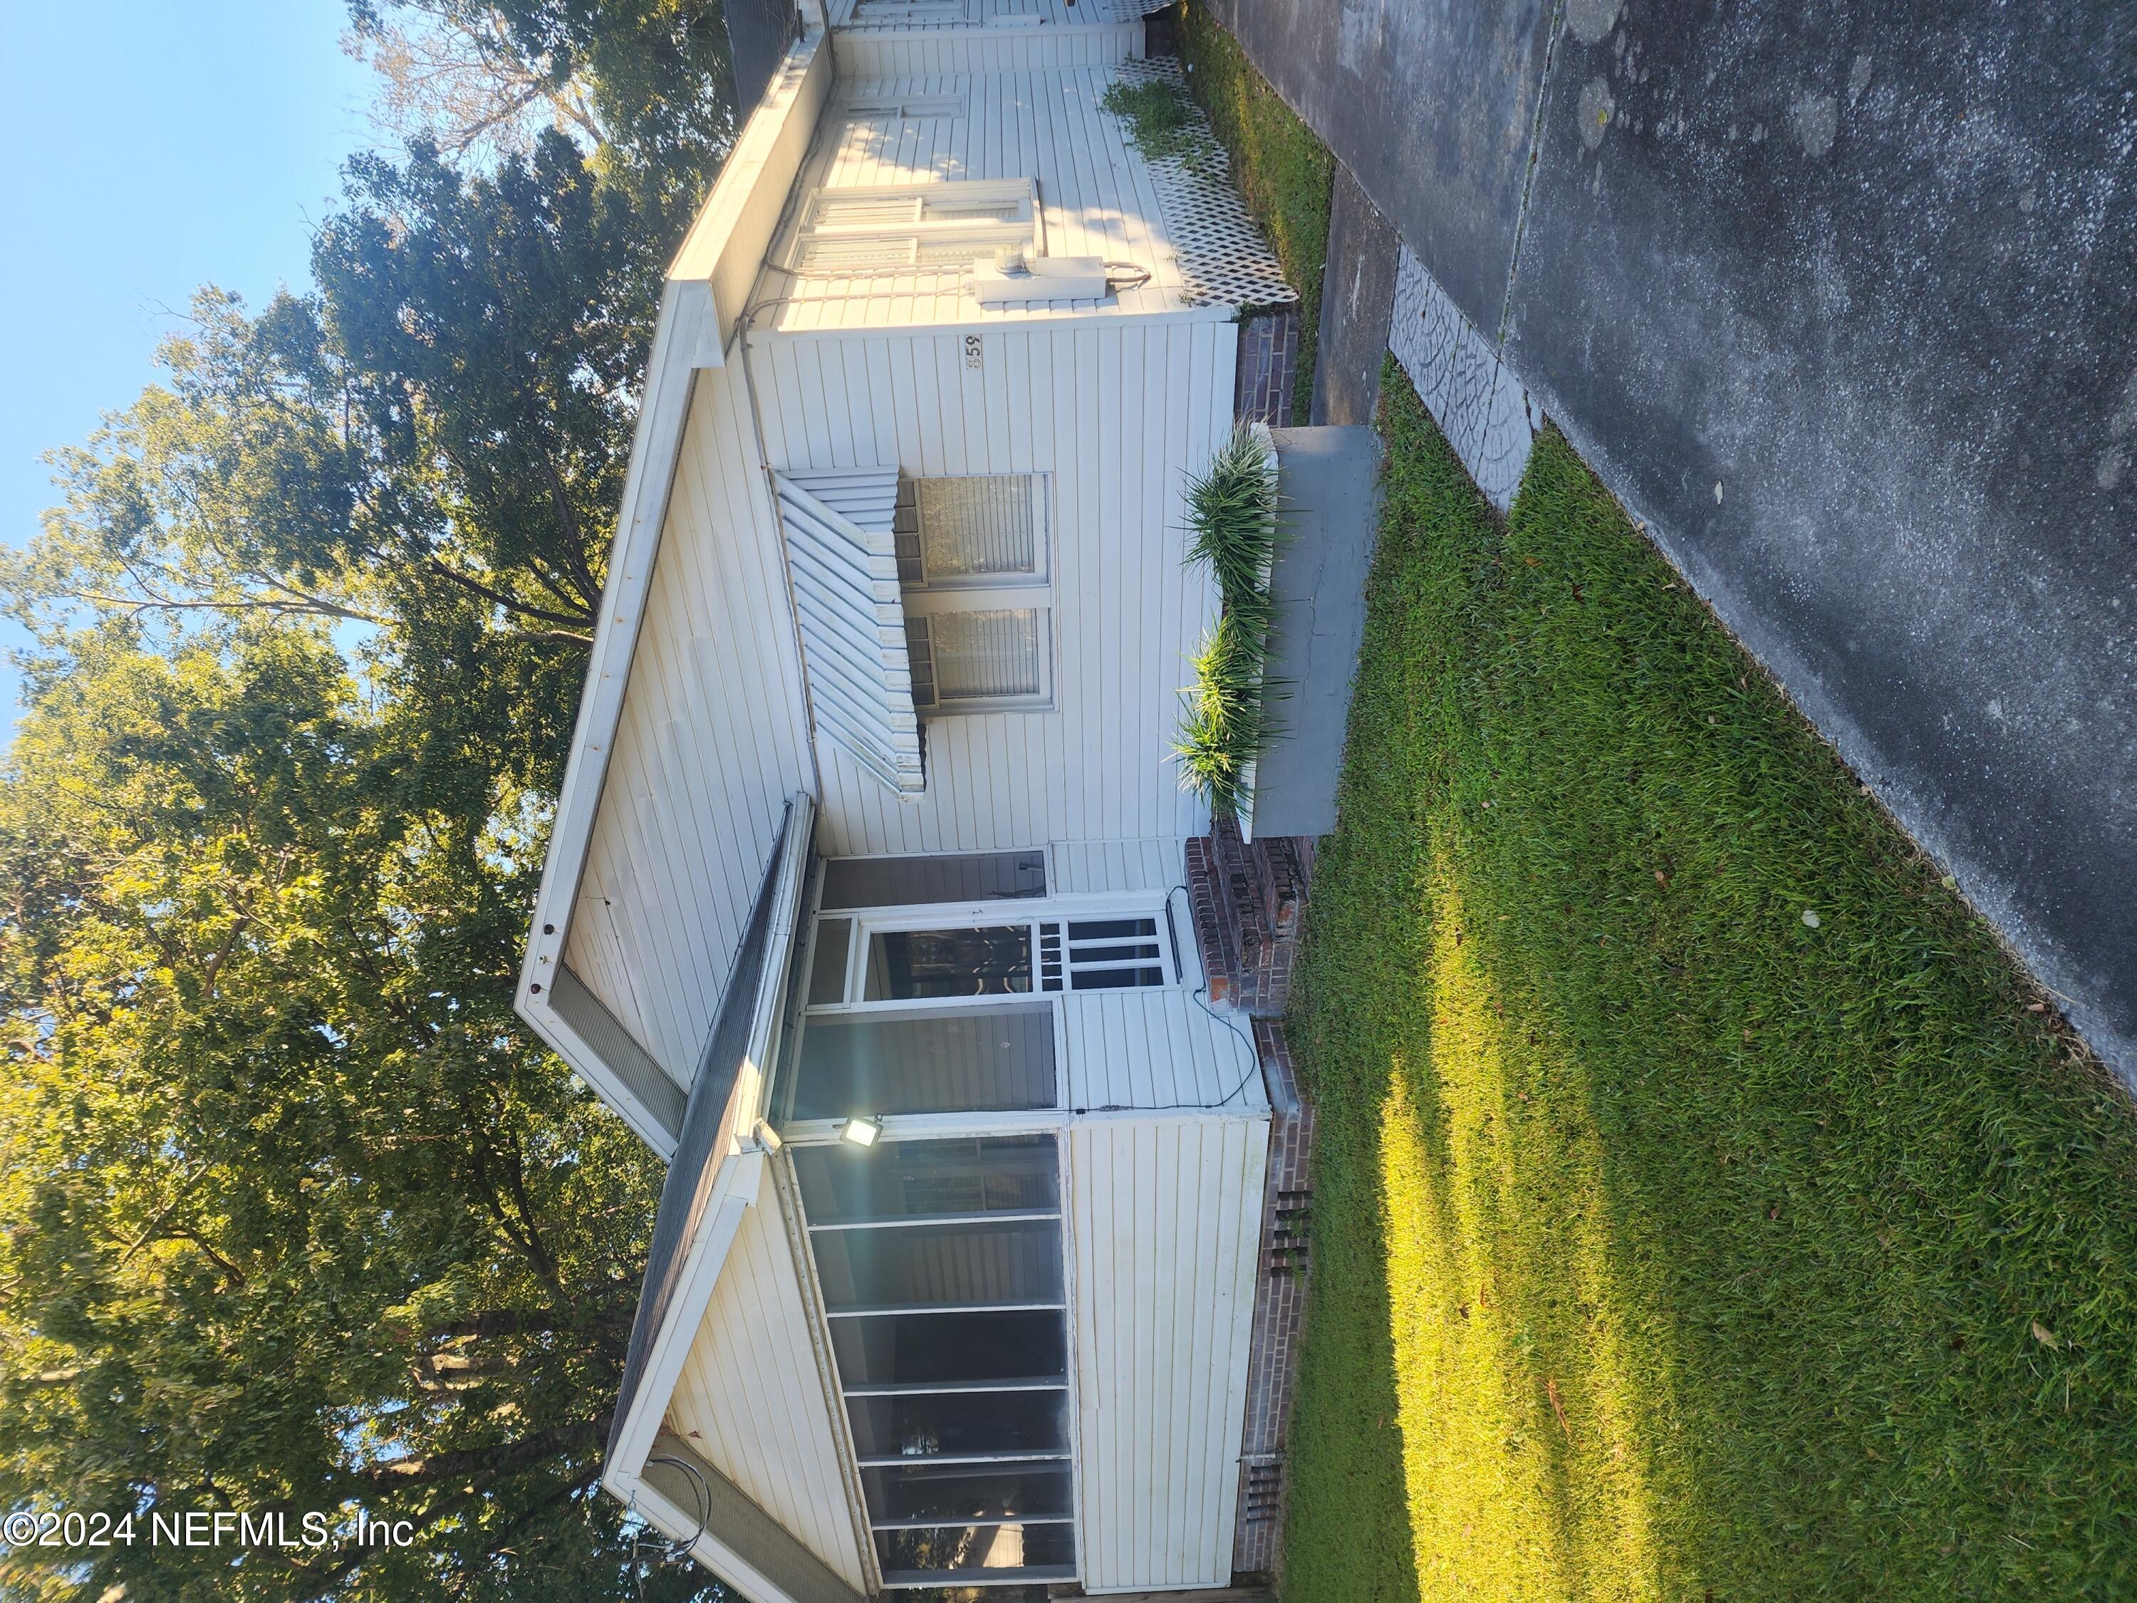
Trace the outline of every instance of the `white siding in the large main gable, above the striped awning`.
<instances>
[{"instance_id":1,"label":"white siding in the large main gable, above the striped awning","mask_svg":"<svg viewBox=\"0 0 2137 1603\"><path fill-rule=\"evenodd\" d=\"M684 1088L793 791L814 789L742 374L697 376L566 962Z\"/></svg>"}]
</instances>

